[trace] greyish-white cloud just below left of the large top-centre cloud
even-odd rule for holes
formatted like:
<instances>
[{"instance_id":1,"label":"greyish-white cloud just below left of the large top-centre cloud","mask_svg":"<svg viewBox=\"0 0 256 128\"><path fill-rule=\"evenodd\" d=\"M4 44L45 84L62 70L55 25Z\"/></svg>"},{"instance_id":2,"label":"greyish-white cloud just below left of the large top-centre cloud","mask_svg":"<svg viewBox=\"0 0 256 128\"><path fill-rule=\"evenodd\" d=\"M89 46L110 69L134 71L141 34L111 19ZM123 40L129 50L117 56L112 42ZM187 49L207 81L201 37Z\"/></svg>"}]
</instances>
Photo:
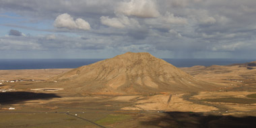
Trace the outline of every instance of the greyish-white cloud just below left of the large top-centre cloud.
<instances>
[{"instance_id":1,"label":"greyish-white cloud just below left of the large top-centre cloud","mask_svg":"<svg viewBox=\"0 0 256 128\"><path fill-rule=\"evenodd\" d=\"M118 15L117 18L109 18L108 16L100 17L100 22L106 26L114 28L125 28L129 27L139 27L139 22L133 18L127 18L125 15Z\"/></svg>"}]
</instances>

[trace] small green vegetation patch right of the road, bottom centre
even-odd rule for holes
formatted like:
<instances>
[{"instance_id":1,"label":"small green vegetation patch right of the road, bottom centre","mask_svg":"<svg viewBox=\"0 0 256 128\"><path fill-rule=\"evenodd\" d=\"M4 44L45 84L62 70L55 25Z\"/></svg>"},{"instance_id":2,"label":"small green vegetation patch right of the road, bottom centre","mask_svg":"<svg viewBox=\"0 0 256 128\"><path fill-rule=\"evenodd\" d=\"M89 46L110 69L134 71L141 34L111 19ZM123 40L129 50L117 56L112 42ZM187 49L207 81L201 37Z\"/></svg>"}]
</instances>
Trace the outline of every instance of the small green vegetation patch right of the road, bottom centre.
<instances>
[{"instance_id":1,"label":"small green vegetation patch right of the road, bottom centre","mask_svg":"<svg viewBox=\"0 0 256 128\"><path fill-rule=\"evenodd\" d=\"M96 121L98 124L113 124L120 121L131 119L131 115L107 115L103 119Z\"/></svg>"}]
</instances>

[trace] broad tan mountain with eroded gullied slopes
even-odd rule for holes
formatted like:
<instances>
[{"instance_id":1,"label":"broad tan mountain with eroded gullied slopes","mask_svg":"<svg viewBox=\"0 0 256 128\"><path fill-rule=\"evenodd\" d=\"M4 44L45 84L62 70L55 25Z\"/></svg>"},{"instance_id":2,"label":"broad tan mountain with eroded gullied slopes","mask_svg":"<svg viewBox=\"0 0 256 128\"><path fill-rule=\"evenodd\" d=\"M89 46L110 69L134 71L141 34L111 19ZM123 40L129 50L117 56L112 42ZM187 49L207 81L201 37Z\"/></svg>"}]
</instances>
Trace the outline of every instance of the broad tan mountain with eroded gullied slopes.
<instances>
[{"instance_id":1,"label":"broad tan mountain with eroded gullied slopes","mask_svg":"<svg viewBox=\"0 0 256 128\"><path fill-rule=\"evenodd\" d=\"M150 53L125 53L54 77L63 88L92 94L148 94L212 90L215 85L199 81Z\"/></svg>"}]
</instances>

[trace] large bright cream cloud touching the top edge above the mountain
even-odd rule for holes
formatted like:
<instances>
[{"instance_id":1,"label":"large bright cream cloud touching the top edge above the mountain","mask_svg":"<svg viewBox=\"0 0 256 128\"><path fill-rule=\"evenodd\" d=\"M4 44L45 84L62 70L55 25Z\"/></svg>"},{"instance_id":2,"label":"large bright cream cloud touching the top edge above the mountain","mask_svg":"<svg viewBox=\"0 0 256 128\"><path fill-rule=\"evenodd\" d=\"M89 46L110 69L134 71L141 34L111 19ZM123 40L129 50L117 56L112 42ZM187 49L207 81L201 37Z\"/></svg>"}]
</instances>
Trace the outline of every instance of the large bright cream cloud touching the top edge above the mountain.
<instances>
[{"instance_id":1,"label":"large bright cream cloud touching the top edge above the mountain","mask_svg":"<svg viewBox=\"0 0 256 128\"><path fill-rule=\"evenodd\" d=\"M156 18L160 15L156 3L152 0L131 0L129 2L121 2L116 11L117 13L141 18Z\"/></svg>"}]
</instances>

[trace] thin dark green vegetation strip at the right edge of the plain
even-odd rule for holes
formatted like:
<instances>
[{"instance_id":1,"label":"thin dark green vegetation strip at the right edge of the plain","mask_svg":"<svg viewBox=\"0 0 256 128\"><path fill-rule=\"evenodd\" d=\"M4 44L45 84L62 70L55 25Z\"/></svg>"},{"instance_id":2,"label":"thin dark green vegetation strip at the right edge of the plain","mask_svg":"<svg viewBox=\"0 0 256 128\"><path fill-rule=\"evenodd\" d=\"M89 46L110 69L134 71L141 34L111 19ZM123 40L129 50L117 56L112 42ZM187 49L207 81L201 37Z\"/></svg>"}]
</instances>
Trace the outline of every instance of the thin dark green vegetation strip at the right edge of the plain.
<instances>
[{"instance_id":1,"label":"thin dark green vegetation strip at the right edge of the plain","mask_svg":"<svg viewBox=\"0 0 256 128\"><path fill-rule=\"evenodd\" d=\"M228 102L228 103L237 103L237 104L254 104L254 103L256 103L256 99L249 99L249 98L214 98L214 99L204 99L202 101Z\"/></svg>"}]
</instances>

